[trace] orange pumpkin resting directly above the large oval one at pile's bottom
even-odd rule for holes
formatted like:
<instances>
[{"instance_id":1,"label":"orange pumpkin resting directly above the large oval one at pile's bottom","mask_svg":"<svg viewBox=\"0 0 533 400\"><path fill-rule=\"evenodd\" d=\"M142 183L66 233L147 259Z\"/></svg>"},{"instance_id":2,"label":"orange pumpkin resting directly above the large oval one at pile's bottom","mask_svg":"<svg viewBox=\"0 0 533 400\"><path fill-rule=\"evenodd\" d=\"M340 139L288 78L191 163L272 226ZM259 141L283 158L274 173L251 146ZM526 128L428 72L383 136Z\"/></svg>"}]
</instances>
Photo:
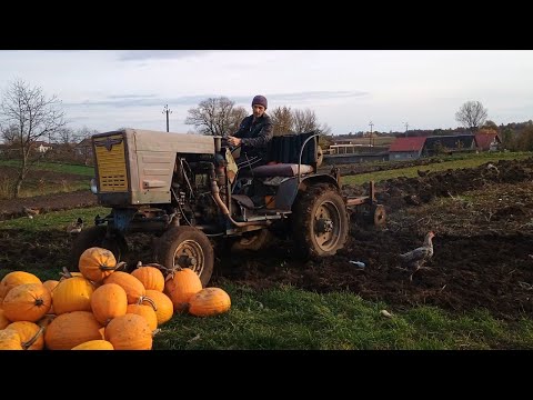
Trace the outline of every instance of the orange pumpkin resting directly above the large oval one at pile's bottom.
<instances>
[{"instance_id":1,"label":"orange pumpkin resting directly above the large oval one at pile's bottom","mask_svg":"<svg viewBox=\"0 0 533 400\"><path fill-rule=\"evenodd\" d=\"M60 280L53 289L53 311L59 316L72 311L92 311L92 283L83 277Z\"/></svg>"}]
</instances>

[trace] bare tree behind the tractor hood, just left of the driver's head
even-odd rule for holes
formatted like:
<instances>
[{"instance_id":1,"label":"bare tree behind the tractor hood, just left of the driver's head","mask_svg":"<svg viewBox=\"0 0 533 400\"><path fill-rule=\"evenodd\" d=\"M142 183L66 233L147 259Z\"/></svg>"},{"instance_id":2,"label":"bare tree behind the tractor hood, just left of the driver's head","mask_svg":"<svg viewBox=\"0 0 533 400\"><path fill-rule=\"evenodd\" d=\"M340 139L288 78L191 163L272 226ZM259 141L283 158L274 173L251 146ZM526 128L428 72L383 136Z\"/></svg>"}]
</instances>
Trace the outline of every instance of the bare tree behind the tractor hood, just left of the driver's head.
<instances>
[{"instance_id":1,"label":"bare tree behind the tractor hood, just left of the driver's head","mask_svg":"<svg viewBox=\"0 0 533 400\"><path fill-rule=\"evenodd\" d=\"M234 132L247 111L225 97L207 99L188 111L185 124L194 126L202 134L225 136Z\"/></svg>"}]
</instances>

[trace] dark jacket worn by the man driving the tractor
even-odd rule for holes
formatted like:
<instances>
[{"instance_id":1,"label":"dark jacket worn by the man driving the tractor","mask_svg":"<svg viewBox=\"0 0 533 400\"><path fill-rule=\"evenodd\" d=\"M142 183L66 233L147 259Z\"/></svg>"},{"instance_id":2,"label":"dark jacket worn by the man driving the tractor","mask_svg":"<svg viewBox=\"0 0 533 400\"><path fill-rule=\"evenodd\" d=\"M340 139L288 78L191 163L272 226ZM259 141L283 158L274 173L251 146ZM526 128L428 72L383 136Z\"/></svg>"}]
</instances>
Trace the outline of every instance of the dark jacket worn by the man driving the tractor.
<instances>
[{"instance_id":1,"label":"dark jacket worn by the man driving the tractor","mask_svg":"<svg viewBox=\"0 0 533 400\"><path fill-rule=\"evenodd\" d=\"M263 113L255 122L253 122L253 114L248 116L233 136L242 140L241 157L245 152L249 157L262 156L264 158L268 144L273 137L272 120L266 113Z\"/></svg>"}]
</instances>

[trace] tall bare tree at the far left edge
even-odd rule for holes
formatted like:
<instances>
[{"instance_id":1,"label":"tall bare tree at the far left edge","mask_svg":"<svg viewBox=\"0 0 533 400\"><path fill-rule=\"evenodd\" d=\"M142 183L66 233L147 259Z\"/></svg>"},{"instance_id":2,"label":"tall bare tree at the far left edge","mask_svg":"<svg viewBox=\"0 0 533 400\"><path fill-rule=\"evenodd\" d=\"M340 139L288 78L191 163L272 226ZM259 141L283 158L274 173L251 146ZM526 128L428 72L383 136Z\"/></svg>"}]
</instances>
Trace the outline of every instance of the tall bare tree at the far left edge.
<instances>
[{"instance_id":1,"label":"tall bare tree at the far left edge","mask_svg":"<svg viewBox=\"0 0 533 400\"><path fill-rule=\"evenodd\" d=\"M31 166L38 161L34 151L36 141L49 139L64 127L63 111L57 107L60 101L53 96L47 98L39 87L30 88L21 80L10 83L0 104L2 126L17 127L14 142L18 148L20 166L13 197L18 198L20 188Z\"/></svg>"}]
</instances>

